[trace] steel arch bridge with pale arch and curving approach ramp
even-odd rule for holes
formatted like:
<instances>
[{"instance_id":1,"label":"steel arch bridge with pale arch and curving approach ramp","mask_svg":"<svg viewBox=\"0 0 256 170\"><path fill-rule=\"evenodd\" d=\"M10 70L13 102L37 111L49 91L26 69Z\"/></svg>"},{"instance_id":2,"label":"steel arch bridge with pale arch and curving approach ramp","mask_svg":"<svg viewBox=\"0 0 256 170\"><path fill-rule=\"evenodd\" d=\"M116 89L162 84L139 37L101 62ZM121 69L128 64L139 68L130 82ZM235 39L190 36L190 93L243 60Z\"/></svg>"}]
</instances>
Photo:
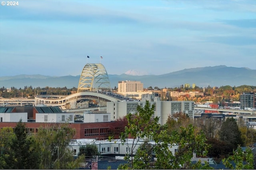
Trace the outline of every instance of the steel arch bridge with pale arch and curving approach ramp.
<instances>
[{"instance_id":1,"label":"steel arch bridge with pale arch and curving approach ramp","mask_svg":"<svg viewBox=\"0 0 256 170\"><path fill-rule=\"evenodd\" d=\"M97 106L105 107L107 102L125 100L111 92L108 73L102 64L86 64L82 70L75 94L68 96L41 95L35 97L35 106L61 106L62 109L88 108L89 101L94 100Z\"/></svg>"}]
</instances>

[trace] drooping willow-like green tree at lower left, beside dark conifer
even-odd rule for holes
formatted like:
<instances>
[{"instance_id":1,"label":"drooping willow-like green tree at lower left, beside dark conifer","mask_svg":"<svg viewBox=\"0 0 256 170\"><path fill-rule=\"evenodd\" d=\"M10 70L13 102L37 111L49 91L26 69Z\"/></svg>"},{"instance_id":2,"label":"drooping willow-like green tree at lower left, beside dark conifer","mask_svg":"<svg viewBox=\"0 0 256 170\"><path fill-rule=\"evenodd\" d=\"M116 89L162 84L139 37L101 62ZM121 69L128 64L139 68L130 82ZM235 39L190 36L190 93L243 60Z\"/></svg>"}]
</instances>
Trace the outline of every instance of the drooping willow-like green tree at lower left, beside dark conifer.
<instances>
[{"instance_id":1,"label":"drooping willow-like green tree at lower left, beside dark conifer","mask_svg":"<svg viewBox=\"0 0 256 170\"><path fill-rule=\"evenodd\" d=\"M75 129L69 124L55 124L39 128L36 133L37 151L40 153L40 169L75 169L79 168L84 156L76 160L68 147L74 137Z\"/></svg>"}]
</instances>

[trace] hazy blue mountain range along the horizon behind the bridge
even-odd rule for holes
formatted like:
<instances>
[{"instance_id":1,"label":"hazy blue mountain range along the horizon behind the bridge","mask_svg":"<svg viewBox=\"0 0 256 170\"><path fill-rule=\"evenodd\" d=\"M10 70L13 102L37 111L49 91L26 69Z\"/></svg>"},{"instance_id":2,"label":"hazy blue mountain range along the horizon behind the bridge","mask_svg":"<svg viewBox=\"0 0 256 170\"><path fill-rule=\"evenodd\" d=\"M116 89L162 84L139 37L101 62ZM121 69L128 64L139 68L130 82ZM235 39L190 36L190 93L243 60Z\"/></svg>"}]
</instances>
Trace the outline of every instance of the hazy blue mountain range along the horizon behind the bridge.
<instances>
[{"instance_id":1,"label":"hazy blue mountain range along the horizon behind the bridge","mask_svg":"<svg viewBox=\"0 0 256 170\"><path fill-rule=\"evenodd\" d=\"M179 87L186 83L192 86L193 83L199 87L207 86L256 86L256 70L249 68L236 68L227 66L213 66L201 68L189 68L162 75L133 76L128 74L108 75L112 88L118 87L118 81L136 80L144 84L144 88L155 86ZM24 88L24 86L36 87L78 87L79 76L43 76L43 75L18 75L0 77L0 87Z\"/></svg>"}]
</instances>

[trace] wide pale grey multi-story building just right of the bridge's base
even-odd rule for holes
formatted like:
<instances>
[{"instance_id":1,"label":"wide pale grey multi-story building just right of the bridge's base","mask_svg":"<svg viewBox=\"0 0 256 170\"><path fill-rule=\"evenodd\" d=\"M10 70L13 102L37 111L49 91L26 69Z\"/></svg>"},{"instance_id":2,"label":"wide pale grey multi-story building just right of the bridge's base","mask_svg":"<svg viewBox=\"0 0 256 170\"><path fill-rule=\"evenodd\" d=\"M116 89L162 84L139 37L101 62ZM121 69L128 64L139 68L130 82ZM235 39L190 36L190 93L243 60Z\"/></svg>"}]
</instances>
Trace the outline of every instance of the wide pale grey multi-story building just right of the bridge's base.
<instances>
[{"instance_id":1,"label":"wide pale grey multi-story building just right of the bridge's base","mask_svg":"<svg viewBox=\"0 0 256 170\"><path fill-rule=\"evenodd\" d=\"M154 104L156 106L154 116L160 117L159 123L161 125L166 123L169 115L178 112L183 112L188 114L190 118L194 118L193 101L160 101L160 98L154 97L153 94L143 95L141 102L107 102L107 112L110 113L111 120L116 120L126 116L129 113L136 113L137 106L139 105L144 107L146 100L150 101L151 105Z\"/></svg>"}]
</instances>

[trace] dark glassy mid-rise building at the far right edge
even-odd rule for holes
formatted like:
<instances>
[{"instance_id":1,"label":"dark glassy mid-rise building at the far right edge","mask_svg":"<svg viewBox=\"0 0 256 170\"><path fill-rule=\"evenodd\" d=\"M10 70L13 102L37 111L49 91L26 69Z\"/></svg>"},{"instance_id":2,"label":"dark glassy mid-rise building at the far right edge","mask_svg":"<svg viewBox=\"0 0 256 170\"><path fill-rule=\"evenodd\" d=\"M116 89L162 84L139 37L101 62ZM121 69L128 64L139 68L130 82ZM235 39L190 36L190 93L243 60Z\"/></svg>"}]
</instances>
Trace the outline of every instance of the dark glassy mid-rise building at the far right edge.
<instances>
[{"instance_id":1,"label":"dark glassy mid-rise building at the far right edge","mask_svg":"<svg viewBox=\"0 0 256 170\"><path fill-rule=\"evenodd\" d=\"M256 108L256 92L240 94L241 109Z\"/></svg>"}]
</instances>

